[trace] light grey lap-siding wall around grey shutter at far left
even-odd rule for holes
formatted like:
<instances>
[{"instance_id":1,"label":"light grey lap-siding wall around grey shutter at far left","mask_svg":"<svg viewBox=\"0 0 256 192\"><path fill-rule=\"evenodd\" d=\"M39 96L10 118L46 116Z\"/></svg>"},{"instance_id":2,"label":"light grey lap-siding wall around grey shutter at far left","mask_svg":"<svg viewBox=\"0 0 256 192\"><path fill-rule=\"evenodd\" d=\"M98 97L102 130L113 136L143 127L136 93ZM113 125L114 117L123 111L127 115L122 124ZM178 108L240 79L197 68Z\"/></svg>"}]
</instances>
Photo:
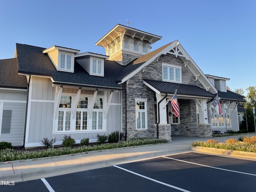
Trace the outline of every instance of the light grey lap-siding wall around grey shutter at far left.
<instances>
[{"instance_id":1,"label":"light grey lap-siding wall around grey shutter at far left","mask_svg":"<svg viewBox=\"0 0 256 192\"><path fill-rule=\"evenodd\" d=\"M2 115L4 110L11 114L10 127L0 132L0 141L11 142L12 146L22 146L26 113L26 90L0 91L0 128L2 128Z\"/></svg>"}]
</instances>

